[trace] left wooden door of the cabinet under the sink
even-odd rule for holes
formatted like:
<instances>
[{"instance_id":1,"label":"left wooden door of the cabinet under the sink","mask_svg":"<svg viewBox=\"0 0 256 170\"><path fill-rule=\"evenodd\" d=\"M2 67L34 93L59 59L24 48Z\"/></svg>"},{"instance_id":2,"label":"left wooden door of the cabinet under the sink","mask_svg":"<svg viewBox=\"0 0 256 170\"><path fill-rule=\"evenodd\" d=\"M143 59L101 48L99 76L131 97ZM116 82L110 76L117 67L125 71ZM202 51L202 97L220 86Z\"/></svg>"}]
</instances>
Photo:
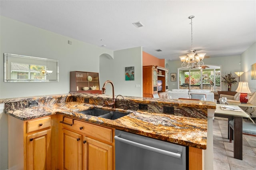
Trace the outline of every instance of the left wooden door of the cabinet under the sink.
<instances>
[{"instance_id":1,"label":"left wooden door of the cabinet under the sink","mask_svg":"<svg viewBox=\"0 0 256 170\"><path fill-rule=\"evenodd\" d=\"M62 170L81 170L82 168L82 135L62 129Z\"/></svg>"}]
</instances>

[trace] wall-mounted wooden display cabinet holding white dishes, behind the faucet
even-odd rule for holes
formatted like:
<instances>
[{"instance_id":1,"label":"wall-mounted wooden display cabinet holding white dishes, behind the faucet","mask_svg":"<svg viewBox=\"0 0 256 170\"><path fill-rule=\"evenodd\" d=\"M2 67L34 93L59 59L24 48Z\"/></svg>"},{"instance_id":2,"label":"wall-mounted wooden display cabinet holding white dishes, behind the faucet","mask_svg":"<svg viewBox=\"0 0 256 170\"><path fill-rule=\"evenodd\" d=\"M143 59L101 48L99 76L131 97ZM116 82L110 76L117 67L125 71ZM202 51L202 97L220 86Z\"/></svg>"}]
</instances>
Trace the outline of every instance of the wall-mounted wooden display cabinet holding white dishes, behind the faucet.
<instances>
[{"instance_id":1,"label":"wall-mounted wooden display cabinet holding white dishes, behind the faucet","mask_svg":"<svg viewBox=\"0 0 256 170\"><path fill-rule=\"evenodd\" d=\"M99 74L94 72L70 71L70 92L102 94Z\"/></svg>"}]
</instances>

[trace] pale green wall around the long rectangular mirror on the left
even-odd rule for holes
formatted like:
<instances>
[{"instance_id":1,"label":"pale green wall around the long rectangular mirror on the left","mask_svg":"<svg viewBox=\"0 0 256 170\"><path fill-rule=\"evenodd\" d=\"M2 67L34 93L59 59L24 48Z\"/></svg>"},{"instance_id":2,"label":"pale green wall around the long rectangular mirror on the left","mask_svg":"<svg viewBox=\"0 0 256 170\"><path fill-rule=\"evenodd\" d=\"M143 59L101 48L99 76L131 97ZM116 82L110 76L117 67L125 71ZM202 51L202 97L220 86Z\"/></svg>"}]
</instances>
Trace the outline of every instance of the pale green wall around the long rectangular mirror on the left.
<instances>
[{"instance_id":1,"label":"pale green wall around the long rectangular mirror on the left","mask_svg":"<svg viewBox=\"0 0 256 170\"><path fill-rule=\"evenodd\" d=\"M114 51L0 16L0 98L68 93L70 71L99 72L99 56ZM72 45L68 44L72 41ZM4 82L4 53L59 60L59 82Z\"/></svg>"}]
</instances>

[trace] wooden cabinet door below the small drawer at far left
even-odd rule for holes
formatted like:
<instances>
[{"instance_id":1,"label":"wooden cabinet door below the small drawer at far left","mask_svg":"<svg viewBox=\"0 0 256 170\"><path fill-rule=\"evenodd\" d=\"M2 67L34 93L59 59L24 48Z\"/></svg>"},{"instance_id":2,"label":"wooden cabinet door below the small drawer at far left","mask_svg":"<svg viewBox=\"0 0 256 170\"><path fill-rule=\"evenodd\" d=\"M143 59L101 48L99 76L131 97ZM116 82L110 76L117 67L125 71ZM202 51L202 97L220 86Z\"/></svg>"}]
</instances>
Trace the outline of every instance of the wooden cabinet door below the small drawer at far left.
<instances>
[{"instance_id":1,"label":"wooden cabinet door below the small drawer at far left","mask_svg":"<svg viewBox=\"0 0 256 170\"><path fill-rule=\"evenodd\" d=\"M51 129L27 136L28 170L50 169Z\"/></svg>"}]
</instances>

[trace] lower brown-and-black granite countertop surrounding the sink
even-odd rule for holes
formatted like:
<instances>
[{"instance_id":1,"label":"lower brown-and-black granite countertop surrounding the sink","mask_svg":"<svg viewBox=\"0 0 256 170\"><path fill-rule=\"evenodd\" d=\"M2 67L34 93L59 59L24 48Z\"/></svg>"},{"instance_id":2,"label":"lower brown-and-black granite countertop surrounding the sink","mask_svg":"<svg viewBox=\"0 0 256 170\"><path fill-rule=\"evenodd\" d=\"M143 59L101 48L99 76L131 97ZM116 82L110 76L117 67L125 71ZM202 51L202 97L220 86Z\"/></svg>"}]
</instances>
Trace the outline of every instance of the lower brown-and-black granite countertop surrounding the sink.
<instances>
[{"instance_id":1,"label":"lower brown-and-black granite countertop surrounding the sink","mask_svg":"<svg viewBox=\"0 0 256 170\"><path fill-rule=\"evenodd\" d=\"M159 101L161 101L161 99L159 99ZM165 100L162 99L162 101ZM182 104L182 101L180 101L180 103ZM184 103L184 105L188 105L187 102ZM196 103L196 105L198 104ZM200 106L204 105L201 104ZM215 109L211 105L208 107ZM207 119L148 113L144 111L124 111L123 109L115 110L120 112L128 112L130 114L116 120L77 113L78 111L92 108L113 110L112 108L98 105L68 102L54 105L29 107L15 111L9 110L6 111L6 113L24 121L47 115L61 114L68 117L73 117L75 119L116 128L118 130L123 130L134 134L148 136L150 138L168 141L183 146L206 149Z\"/></svg>"}]
</instances>

